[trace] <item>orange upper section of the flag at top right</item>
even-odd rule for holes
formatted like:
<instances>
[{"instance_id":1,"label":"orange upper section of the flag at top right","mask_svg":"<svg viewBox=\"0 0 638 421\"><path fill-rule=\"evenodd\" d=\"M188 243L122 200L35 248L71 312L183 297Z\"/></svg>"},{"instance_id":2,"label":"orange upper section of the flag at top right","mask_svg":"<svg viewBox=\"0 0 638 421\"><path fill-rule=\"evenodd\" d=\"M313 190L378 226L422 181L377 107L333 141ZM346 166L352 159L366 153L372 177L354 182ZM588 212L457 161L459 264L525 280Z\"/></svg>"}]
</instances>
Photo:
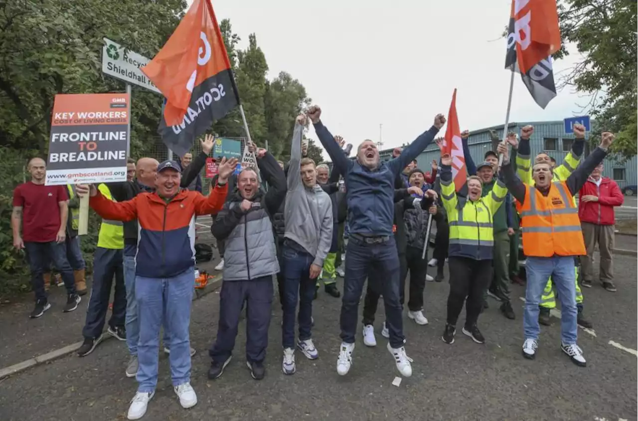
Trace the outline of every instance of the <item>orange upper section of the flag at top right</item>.
<instances>
[{"instance_id":1,"label":"orange upper section of the flag at top right","mask_svg":"<svg viewBox=\"0 0 638 421\"><path fill-rule=\"evenodd\" d=\"M558 11L553 0L512 0L510 19L521 73L560 50ZM508 40L508 43L511 41Z\"/></svg>"}]
</instances>

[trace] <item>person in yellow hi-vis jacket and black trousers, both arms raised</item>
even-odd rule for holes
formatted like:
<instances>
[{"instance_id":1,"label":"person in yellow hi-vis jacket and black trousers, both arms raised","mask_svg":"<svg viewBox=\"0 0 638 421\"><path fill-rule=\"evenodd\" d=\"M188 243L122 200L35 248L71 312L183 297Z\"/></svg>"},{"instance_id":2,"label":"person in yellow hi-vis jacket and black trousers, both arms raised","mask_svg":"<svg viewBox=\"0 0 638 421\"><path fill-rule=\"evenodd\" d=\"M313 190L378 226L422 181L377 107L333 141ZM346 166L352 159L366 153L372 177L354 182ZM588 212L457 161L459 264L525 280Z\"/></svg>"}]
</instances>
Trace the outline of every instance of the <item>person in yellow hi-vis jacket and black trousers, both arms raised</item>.
<instances>
[{"instance_id":1,"label":"person in yellow hi-vis jacket and black trousers, both arms raised","mask_svg":"<svg viewBox=\"0 0 638 421\"><path fill-rule=\"evenodd\" d=\"M477 327L483 307L483 291L492 280L494 213L505 203L507 188L494 183L491 194L481 197L483 183L477 176L467 180L468 197L456 194L452 180L452 158L441 157L441 199L450 224L450 294L447 298L447 324L443 342L454 343L456 321L467 297L467 316L463 333L474 342L485 343Z\"/></svg>"}]
</instances>

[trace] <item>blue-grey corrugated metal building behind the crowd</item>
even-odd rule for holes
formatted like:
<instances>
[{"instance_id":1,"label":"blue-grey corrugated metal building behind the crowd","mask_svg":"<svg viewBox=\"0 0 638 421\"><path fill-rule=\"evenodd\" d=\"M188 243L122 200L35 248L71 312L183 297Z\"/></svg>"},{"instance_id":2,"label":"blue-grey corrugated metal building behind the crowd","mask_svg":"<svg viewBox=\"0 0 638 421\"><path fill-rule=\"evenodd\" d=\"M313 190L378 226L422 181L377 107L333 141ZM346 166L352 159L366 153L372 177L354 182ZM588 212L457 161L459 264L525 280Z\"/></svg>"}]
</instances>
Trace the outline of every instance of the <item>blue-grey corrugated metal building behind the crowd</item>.
<instances>
[{"instance_id":1,"label":"blue-grey corrugated metal building behind the crowd","mask_svg":"<svg viewBox=\"0 0 638 421\"><path fill-rule=\"evenodd\" d=\"M563 121L530 121L523 123L508 124L508 132L521 133L521 128L526 125L534 126L534 134L531 136L531 153L532 156L545 151L549 156L556 159L560 164L572 148L574 134L565 134L565 125ZM462 128L463 129L463 128ZM470 153L475 162L479 165L484 160L485 153L492 149L491 137L489 130L495 130L499 137L503 135L503 125L482 128L470 132L468 144L470 145ZM441 135L443 135L441 133ZM419 168L423 171L429 171L433 159L440 158L440 151L436 144L431 144L417 158ZM384 149L380 151L382 159L389 159L392 156L392 149ZM638 184L638 157L634 157L626 162L618 162L613 158L605 160L604 176L616 180L619 187L626 185Z\"/></svg>"}]
</instances>

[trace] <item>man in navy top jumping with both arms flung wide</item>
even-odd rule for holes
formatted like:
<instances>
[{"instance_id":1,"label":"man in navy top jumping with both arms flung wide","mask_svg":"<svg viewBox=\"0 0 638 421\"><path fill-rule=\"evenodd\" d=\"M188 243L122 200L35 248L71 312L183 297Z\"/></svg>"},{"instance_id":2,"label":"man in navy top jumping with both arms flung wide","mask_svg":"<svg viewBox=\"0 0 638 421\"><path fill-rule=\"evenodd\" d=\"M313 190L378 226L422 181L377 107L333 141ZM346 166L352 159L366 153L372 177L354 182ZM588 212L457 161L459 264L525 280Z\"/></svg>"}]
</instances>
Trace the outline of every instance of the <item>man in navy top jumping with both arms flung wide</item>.
<instances>
[{"instance_id":1,"label":"man in navy top jumping with both arms flung wide","mask_svg":"<svg viewBox=\"0 0 638 421\"><path fill-rule=\"evenodd\" d=\"M421 134L399 157L380 162L375 142L363 141L357 148L356 160L348 159L323 126L321 109L316 105L308 109L315 125L317 137L326 149L334 167L346 182L348 226L350 229L346 250L346 273L341 305L341 347L337 372L344 376L352 365L357 330L357 307L367 274L374 270L383 280L382 295L385 302L387 327L390 331L388 350L394 356L397 369L403 376L412 376L410 358L403 347L403 319L399 302L399 257L392 235L394 217L394 181L408 162L427 147L445 124L438 114L434 125Z\"/></svg>"}]
</instances>

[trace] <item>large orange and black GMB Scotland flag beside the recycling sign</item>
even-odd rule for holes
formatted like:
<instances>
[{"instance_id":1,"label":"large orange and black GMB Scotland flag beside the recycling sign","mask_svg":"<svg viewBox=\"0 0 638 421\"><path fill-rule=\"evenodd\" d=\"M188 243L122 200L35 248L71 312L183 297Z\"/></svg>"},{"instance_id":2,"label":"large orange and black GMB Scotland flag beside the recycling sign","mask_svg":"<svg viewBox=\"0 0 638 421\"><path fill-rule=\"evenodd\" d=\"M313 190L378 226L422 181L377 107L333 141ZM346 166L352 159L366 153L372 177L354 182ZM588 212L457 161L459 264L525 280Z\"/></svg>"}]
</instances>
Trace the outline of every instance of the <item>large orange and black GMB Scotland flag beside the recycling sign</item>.
<instances>
[{"instance_id":1,"label":"large orange and black GMB Scotland flag beside the recycling sign","mask_svg":"<svg viewBox=\"0 0 638 421\"><path fill-rule=\"evenodd\" d=\"M142 68L166 97L159 134L177 155L239 104L210 0L195 0L168 42Z\"/></svg>"}]
</instances>

